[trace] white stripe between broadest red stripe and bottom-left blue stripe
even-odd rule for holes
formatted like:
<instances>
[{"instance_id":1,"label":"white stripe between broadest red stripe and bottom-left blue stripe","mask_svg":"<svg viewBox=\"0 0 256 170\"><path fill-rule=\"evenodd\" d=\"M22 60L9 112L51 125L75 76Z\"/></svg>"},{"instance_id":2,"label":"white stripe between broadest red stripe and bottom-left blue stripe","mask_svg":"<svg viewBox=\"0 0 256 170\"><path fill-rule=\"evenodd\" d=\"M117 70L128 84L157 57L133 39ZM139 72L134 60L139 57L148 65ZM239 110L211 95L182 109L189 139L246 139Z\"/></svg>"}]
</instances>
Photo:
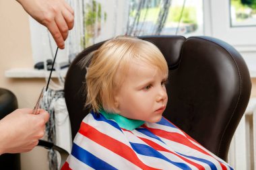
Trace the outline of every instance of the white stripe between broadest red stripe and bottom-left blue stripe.
<instances>
[{"instance_id":1,"label":"white stripe between broadest red stripe and bottom-left blue stripe","mask_svg":"<svg viewBox=\"0 0 256 170\"><path fill-rule=\"evenodd\" d=\"M117 169L140 169L127 159L113 153L104 146L90 140L90 138L86 138L82 134L77 134L74 143Z\"/></svg>"}]
</instances>

